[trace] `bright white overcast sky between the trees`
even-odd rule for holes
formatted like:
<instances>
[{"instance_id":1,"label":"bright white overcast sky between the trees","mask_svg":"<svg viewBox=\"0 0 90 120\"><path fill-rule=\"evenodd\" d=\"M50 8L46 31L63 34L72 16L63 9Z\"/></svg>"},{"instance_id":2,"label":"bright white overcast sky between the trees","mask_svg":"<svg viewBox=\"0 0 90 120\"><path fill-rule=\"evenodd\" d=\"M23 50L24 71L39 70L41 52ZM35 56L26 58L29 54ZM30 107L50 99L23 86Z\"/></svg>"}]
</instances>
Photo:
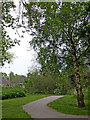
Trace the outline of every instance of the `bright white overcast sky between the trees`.
<instances>
[{"instance_id":1,"label":"bright white overcast sky between the trees","mask_svg":"<svg viewBox=\"0 0 90 120\"><path fill-rule=\"evenodd\" d=\"M18 1L14 1L18 6ZM16 45L15 47L12 47L12 49L9 50L11 53L15 54L15 59L13 60L13 63L6 63L4 67L1 68L0 72L6 72L7 74L9 74L12 71L18 75L26 75L28 73L28 69L30 70L30 72L34 71L35 67L39 64L36 61L36 52L28 44L28 42L32 39L32 36L25 33L25 37L20 38L18 35L15 34L15 31L11 28L8 28L7 31L12 39L17 38L21 42L20 46Z\"/></svg>"}]
</instances>

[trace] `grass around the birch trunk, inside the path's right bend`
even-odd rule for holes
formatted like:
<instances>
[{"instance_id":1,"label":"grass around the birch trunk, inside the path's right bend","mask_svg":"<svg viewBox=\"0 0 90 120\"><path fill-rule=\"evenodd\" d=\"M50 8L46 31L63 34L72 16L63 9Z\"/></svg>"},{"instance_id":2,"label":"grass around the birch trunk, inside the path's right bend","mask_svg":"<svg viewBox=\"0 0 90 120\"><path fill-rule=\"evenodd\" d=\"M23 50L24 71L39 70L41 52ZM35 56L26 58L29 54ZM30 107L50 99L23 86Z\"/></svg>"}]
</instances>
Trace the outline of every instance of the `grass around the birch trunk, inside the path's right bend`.
<instances>
[{"instance_id":1,"label":"grass around the birch trunk, inside the path's right bend","mask_svg":"<svg viewBox=\"0 0 90 120\"><path fill-rule=\"evenodd\" d=\"M77 98L74 95L65 95L62 98L59 98L48 106L65 114L73 114L73 115L88 115L88 99L85 99L85 107L78 108L77 107Z\"/></svg>"}]
</instances>

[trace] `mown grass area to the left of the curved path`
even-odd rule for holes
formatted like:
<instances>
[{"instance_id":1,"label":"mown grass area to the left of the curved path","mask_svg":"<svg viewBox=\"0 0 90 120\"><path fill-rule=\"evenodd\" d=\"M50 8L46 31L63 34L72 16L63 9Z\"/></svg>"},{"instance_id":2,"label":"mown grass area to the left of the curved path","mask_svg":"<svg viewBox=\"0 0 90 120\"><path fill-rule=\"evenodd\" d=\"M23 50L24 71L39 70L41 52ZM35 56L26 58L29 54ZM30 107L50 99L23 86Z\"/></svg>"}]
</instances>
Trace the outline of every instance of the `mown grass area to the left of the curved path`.
<instances>
[{"instance_id":1,"label":"mown grass area to the left of the curved path","mask_svg":"<svg viewBox=\"0 0 90 120\"><path fill-rule=\"evenodd\" d=\"M2 100L2 118L31 118L23 109L23 105L48 95L30 95L27 97Z\"/></svg>"}]
</instances>

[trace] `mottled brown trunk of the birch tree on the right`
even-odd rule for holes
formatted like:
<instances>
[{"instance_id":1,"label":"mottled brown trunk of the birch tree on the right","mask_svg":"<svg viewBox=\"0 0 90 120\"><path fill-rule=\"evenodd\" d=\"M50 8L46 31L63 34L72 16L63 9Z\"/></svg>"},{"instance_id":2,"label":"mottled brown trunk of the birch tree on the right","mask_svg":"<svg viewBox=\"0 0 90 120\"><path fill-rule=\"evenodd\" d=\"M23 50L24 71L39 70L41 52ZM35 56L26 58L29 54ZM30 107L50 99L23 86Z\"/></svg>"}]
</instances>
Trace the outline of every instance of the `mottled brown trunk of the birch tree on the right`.
<instances>
[{"instance_id":1,"label":"mottled brown trunk of the birch tree on the right","mask_svg":"<svg viewBox=\"0 0 90 120\"><path fill-rule=\"evenodd\" d=\"M77 90L78 107L85 107L84 95L82 92L82 86L81 86L81 82L80 82L79 65L78 65L77 56L76 56L76 48L74 45L74 41L72 40L71 31L68 31L68 33L70 36L72 58L73 58L74 71L75 71L75 77L76 77L76 90Z\"/></svg>"}]
</instances>

